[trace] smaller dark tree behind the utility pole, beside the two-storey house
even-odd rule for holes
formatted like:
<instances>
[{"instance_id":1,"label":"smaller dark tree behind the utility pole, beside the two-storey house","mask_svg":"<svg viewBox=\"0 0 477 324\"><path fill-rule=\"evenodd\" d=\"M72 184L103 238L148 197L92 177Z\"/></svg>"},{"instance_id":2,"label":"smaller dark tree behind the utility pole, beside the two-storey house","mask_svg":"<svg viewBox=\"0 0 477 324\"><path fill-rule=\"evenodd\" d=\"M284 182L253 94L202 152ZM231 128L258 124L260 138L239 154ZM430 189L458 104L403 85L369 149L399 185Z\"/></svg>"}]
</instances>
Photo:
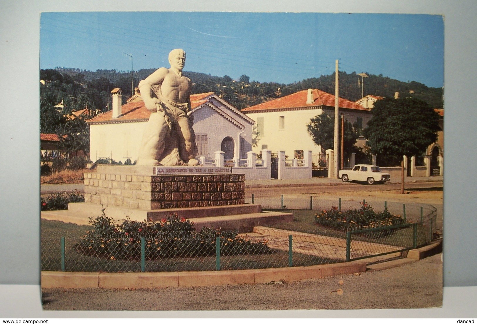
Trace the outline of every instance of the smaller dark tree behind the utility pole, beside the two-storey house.
<instances>
[{"instance_id":1,"label":"smaller dark tree behind the utility pole, beside the two-storey house","mask_svg":"<svg viewBox=\"0 0 477 324\"><path fill-rule=\"evenodd\" d=\"M341 117L340 117L341 118ZM311 136L313 142L316 145L321 145L321 150L330 150L334 148L334 118L330 117L327 114L321 114L315 116L311 119L310 123L307 125L308 133ZM341 120L338 123L338 141L341 145ZM344 120L344 155L347 156L350 153L355 151L356 140L358 140L358 134L354 131L353 125L348 121Z\"/></svg>"}]
</instances>

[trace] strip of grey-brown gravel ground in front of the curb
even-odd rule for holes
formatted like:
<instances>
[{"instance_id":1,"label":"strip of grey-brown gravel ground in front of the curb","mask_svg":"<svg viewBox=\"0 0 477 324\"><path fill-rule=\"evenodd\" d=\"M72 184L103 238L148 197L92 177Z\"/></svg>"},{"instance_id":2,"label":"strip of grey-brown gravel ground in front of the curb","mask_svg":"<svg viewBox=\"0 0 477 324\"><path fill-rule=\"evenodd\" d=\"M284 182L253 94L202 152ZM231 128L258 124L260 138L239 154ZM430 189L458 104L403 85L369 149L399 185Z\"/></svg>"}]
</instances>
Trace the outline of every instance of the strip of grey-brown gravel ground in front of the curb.
<instances>
[{"instance_id":1,"label":"strip of grey-brown gravel ground in front of the curb","mask_svg":"<svg viewBox=\"0 0 477 324\"><path fill-rule=\"evenodd\" d=\"M282 284L42 289L44 310L296 310L442 305L441 254L400 267Z\"/></svg>"}]
</instances>

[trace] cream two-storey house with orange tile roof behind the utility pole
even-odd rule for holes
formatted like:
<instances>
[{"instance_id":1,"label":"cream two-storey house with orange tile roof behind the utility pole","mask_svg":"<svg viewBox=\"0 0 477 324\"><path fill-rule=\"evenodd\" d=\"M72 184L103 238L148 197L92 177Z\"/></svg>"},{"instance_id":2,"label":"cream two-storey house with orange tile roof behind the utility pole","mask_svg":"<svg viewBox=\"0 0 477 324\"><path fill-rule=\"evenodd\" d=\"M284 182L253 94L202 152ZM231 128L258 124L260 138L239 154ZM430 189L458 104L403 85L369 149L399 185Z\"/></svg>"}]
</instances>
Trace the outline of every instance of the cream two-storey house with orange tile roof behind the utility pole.
<instances>
[{"instance_id":1,"label":"cream two-storey house with orange tile roof behind the utility pole","mask_svg":"<svg viewBox=\"0 0 477 324\"><path fill-rule=\"evenodd\" d=\"M285 151L289 158L301 157L307 151L321 153L320 145L313 142L306 125L311 118L323 113L333 117L334 101L332 94L308 89L242 109L256 121L258 146L254 151ZM344 98L338 99L338 106L344 119L357 125L360 138L356 145L364 145L362 130L371 119L371 109Z\"/></svg>"}]
</instances>

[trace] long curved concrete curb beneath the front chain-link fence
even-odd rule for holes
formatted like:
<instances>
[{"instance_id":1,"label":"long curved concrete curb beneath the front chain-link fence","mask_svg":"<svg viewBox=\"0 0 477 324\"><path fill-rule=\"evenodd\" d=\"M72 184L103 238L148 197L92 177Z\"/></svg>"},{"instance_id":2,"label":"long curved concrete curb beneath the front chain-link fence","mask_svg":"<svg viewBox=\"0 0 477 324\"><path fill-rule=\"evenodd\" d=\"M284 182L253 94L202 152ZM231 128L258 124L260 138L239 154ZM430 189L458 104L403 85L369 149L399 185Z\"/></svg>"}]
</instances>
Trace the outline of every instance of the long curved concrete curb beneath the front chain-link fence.
<instances>
[{"instance_id":1,"label":"long curved concrete curb beneath the front chain-link fence","mask_svg":"<svg viewBox=\"0 0 477 324\"><path fill-rule=\"evenodd\" d=\"M199 287L321 279L365 271L366 262L361 260L307 267L221 271L122 273L41 271L41 288Z\"/></svg>"}]
</instances>

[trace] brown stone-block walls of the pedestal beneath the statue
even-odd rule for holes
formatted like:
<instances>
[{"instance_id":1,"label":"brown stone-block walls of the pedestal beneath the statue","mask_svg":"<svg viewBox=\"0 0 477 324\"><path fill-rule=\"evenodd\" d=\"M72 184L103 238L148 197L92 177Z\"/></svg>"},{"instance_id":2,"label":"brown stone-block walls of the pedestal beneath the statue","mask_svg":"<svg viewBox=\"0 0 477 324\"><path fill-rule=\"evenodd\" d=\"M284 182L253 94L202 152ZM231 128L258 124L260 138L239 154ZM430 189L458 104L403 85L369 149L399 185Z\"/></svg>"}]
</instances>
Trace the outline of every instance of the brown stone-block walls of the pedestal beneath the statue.
<instances>
[{"instance_id":1,"label":"brown stone-block walls of the pedestal beneath the statue","mask_svg":"<svg viewBox=\"0 0 477 324\"><path fill-rule=\"evenodd\" d=\"M84 173L84 201L134 209L240 205L245 203L243 174Z\"/></svg>"}]
</instances>

